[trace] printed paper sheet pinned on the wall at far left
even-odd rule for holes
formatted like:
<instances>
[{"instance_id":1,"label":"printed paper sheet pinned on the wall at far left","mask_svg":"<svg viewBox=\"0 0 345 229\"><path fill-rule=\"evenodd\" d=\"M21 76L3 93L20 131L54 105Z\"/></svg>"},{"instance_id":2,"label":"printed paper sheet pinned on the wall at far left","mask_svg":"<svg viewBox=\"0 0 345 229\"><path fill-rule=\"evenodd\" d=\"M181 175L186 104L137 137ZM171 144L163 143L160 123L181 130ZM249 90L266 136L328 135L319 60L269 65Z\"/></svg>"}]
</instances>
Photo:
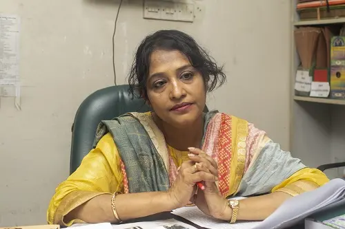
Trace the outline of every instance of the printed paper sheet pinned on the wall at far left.
<instances>
[{"instance_id":1,"label":"printed paper sheet pinned on the wall at far left","mask_svg":"<svg viewBox=\"0 0 345 229\"><path fill-rule=\"evenodd\" d=\"M0 14L0 97L14 97L20 110L19 30L17 15Z\"/></svg>"}]
</instances>

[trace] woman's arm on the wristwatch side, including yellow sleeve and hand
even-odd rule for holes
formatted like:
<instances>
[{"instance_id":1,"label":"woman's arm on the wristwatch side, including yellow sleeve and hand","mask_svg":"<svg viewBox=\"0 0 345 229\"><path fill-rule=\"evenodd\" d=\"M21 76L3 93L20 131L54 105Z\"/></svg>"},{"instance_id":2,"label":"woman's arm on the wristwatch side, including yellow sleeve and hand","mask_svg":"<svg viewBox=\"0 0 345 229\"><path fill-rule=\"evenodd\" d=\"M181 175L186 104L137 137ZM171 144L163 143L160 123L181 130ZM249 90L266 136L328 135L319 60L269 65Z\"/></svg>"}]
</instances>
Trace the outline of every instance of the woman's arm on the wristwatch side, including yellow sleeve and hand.
<instances>
[{"instance_id":1,"label":"woman's arm on the wristwatch side, including yellow sleeve and hand","mask_svg":"<svg viewBox=\"0 0 345 229\"><path fill-rule=\"evenodd\" d=\"M197 163L199 171L208 171L204 165L215 163L213 158L199 149L190 151L190 157ZM329 179L322 171L315 168L303 168L282 183L273 187L270 194L257 197L248 197L239 200L237 220L264 220L271 215L286 199L306 191L315 190ZM230 221L233 210L228 206L228 200L221 196L217 185L213 182L204 182L205 190L198 190L196 203L201 211L217 219Z\"/></svg>"}]
</instances>

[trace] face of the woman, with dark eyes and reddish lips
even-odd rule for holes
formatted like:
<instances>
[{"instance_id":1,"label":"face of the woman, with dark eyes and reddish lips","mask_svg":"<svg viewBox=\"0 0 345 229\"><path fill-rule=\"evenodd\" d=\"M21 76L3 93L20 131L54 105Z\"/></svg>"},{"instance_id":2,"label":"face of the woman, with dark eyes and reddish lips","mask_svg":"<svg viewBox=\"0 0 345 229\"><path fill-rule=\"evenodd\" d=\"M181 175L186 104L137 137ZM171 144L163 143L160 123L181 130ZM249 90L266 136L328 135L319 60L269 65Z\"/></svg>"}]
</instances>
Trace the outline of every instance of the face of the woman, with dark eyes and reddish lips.
<instances>
[{"instance_id":1,"label":"face of the woman, with dark eyes and reddish lips","mask_svg":"<svg viewBox=\"0 0 345 229\"><path fill-rule=\"evenodd\" d=\"M157 116L174 127L193 124L204 111L204 78L179 51L152 52L146 89Z\"/></svg>"}]
</instances>

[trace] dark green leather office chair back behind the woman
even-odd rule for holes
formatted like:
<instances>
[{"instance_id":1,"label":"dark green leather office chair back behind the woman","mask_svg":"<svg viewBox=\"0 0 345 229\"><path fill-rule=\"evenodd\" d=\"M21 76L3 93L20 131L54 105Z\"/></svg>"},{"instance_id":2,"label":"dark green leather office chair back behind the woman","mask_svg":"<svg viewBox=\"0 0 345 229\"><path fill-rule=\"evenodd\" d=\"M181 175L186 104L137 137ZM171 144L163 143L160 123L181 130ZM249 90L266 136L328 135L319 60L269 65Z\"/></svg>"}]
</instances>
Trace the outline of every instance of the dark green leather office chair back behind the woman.
<instances>
[{"instance_id":1,"label":"dark green leather office chair back behind the woman","mask_svg":"<svg viewBox=\"0 0 345 229\"><path fill-rule=\"evenodd\" d=\"M127 112L146 112L150 107L143 99L132 99L128 85L99 89L83 100L72 125L70 150L70 174L81 164L81 160L92 149L97 126L101 120L111 120ZM205 107L204 111L208 111Z\"/></svg>"}]
</instances>

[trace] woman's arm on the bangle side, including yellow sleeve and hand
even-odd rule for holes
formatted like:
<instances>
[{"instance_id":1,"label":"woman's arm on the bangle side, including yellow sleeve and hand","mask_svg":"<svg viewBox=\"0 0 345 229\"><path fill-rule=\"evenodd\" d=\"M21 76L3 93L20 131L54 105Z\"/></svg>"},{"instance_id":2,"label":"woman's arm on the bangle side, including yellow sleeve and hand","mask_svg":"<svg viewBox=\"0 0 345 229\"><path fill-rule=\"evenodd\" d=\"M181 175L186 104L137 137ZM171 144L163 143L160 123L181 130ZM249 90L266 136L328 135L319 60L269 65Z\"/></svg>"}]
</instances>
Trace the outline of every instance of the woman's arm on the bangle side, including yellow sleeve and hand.
<instances>
[{"instance_id":1,"label":"woman's arm on the bangle side, including yellow sleeve and hand","mask_svg":"<svg viewBox=\"0 0 345 229\"><path fill-rule=\"evenodd\" d=\"M84 157L77 171L57 187L48 208L48 223L70 226L79 220L87 223L117 222L111 199L112 193L123 189L119 168L117 148L111 136L105 135L97 148ZM195 183L202 180L215 182L216 177L196 171L194 162L184 162L174 186L166 192L117 195L117 215L125 221L184 206L195 193Z\"/></svg>"}]
</instances>

